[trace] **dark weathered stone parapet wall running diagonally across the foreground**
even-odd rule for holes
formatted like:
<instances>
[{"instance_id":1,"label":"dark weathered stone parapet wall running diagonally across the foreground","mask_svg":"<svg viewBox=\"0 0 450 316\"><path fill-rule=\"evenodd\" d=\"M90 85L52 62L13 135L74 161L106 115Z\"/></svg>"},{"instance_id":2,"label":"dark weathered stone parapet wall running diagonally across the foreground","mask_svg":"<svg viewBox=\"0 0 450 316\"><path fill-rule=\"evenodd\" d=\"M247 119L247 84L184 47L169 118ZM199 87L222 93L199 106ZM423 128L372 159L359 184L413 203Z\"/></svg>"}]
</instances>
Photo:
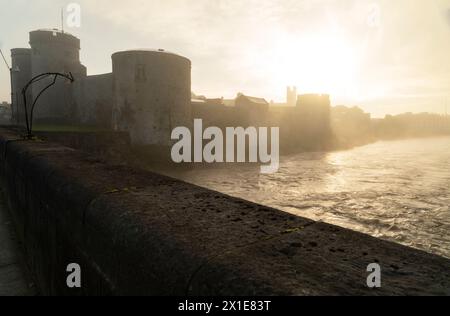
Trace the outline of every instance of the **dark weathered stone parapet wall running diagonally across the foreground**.
<instances>
[{"instance_id":1,"label":"dark weathered stone parapet wall running diagonally across the foreground","mask_svg":"<svg viewBox=\"0 0 450 316\"><path fill-rule=\"evenodd\" d=\"M8 130L0 179L42 294L450 294L447 259Z\"/></svg>"}]
</instances>

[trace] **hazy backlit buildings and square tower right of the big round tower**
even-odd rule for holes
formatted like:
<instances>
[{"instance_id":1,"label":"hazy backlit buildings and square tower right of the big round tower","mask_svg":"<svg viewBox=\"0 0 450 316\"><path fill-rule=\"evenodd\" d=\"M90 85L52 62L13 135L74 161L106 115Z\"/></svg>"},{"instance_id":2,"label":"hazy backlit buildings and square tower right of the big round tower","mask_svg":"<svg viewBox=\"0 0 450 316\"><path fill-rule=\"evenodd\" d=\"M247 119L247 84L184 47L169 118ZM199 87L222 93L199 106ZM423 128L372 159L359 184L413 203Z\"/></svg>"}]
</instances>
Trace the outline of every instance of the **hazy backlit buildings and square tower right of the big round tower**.
<instances>
[{"instance_id":1,"label":"hazy backlit buildings and square tower right of the big round tower","mask_svg":"<svg viewBox=\"0 0 450 316\"><path fill-rule=\"evenodd\" d=\"M291 94L296 89L290 89ZM238 94L235 100L221 100L222 104L193 99L194 118L203 119L205 126L223 130L230 126L280 127L280 149L326 150L332 147L331 101L326 94L304 94L293 97L294 106L287 103L268 103L264 98ZM219 102L217 102L219 103Z\"/></svg>"}]
</instances>

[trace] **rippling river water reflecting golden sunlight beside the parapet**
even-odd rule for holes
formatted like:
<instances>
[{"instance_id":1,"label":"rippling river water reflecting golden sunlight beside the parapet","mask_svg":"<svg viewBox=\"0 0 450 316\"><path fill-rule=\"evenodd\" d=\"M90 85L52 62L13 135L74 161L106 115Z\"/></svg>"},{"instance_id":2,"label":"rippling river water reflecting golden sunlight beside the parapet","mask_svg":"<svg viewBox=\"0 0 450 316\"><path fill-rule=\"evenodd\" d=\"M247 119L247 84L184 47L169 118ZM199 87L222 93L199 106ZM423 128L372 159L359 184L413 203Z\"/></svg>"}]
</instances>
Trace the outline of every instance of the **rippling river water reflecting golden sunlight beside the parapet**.
<instances>
[{"instance_id":1,"label":"rippling river water reflecting golden sunlight beside the parapet","mask_svg":"<svg viewBox=\"0 0 450 316\"><path fill-rule=\"evenodd\" d=\"M276 174L222 165L164 173L450 258L450 138L281 158Z\"/></svg>"}]
</instances>

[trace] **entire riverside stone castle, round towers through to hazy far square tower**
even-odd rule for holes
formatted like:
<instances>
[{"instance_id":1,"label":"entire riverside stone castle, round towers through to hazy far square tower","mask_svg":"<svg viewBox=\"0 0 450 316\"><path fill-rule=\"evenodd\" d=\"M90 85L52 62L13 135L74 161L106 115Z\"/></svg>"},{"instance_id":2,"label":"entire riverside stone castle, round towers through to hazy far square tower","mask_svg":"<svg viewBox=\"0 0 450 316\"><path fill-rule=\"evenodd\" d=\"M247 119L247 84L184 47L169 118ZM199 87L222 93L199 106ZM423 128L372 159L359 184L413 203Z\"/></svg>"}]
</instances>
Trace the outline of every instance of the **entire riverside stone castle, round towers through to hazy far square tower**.
<instances>
[{"instance_id":1,"label":"entire riverside stone castle, round towers through to hazy far square tower","mask_svg":"<svg viewBox=\"0 0 450 316\"><path fill-rule=\"evenodd\" d=\"M193 100L191 61L183 56L164 50L117 52L111 56L112 73L88 76L75 36L41 29L30 32L29 44L30 48L11 50L12 108L20 125L25 117L23 87L42 73L70 72L73 84L58 79L39 97L34 122L124 131L137 146L171 145L172 129L191 127L194 118L219 127L277 126L282 143L292 148L326 146L330 138L328 95L297 95L295 87L288 87L283 106L244 94L231 101ZM27 100L36 99L52 80L34 83L27 90Z\"/></svg>"}]
</instances>

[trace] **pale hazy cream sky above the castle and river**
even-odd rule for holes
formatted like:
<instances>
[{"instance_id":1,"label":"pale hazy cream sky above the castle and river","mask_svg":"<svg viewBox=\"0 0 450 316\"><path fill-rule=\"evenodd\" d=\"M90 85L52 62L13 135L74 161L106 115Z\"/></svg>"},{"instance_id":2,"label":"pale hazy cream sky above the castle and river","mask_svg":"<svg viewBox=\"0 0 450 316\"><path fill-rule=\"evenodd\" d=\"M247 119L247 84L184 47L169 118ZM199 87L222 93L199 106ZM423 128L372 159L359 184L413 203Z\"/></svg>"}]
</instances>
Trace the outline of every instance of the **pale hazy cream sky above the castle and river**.
<instances>
[{"instance_id":1,"label":"pale hazy cream sky above the castle and river","mask_svg":"<svg viewBox=\"0 0 450 316\"><path fill-rule=\"evenodd\" d=\"M211 98L284 102L297 86L374 117L450 113L450 0L0 0L8 62L72 3L81 24L65 30L88 74L110 72L116 51L163 48L191 59L193 92ZM0 65L0 101L9 89Z\"/></svg>"}]
</instances>

